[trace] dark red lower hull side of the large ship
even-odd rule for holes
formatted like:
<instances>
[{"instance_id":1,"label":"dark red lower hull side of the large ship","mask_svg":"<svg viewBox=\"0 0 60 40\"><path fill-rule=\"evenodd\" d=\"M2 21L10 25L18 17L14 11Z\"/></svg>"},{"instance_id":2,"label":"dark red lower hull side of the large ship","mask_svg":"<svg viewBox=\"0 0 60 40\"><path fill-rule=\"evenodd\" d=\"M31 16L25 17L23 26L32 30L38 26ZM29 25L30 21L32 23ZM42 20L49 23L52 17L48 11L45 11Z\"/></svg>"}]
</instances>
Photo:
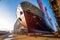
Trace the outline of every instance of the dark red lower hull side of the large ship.
<instances>
[{"instance_id":1,"label":"dark red lower hull side of the large ship","mask_svg":"<svg viewBox=\"0 0 60 40\"><path fill-rule=\"evenodd\" d=\"M24 11L24 16L29 33L36 32L34 30L50 31L50 28L47 27L44 20L38 15L35 15L32 12Z\"/></svg>"}]
</instances>

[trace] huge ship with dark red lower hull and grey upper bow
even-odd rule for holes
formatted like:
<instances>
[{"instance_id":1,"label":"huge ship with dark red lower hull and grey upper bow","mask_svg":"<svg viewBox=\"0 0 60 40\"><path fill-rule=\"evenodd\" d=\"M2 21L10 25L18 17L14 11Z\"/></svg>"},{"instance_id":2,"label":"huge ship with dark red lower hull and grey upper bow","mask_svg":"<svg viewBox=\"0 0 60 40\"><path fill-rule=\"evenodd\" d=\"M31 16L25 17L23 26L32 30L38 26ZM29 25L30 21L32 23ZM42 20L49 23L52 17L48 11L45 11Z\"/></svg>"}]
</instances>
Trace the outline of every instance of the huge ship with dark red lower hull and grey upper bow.
<instances>
[{"instance_id":1,"label":"huge ship with dark red lower hull and grey upper bow","mask_svg":"<svg viewBox=\"0 0 60 40\"><path fill-rule=\"evenodd\" d=\"M39 7L41 7L41 2L37 2ZM45 8L45 10L47 9ZM56 30L53 28L51 19L45 16L47 14L43 12L43 9L36 7L30 2L21 2L17 7L16 15L20 25L27 28L28 33L54 33L58 35L58 28L55 27Z\"/></svg>"}]
</instances>

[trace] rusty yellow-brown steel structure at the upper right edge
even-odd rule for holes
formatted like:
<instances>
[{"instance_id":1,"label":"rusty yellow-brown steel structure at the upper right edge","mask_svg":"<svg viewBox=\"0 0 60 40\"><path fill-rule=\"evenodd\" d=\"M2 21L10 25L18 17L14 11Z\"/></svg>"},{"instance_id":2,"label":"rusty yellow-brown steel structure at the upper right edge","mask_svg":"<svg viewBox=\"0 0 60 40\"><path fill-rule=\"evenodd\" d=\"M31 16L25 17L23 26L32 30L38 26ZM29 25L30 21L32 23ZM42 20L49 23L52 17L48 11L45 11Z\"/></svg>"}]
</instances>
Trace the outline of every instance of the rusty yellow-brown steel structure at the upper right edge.
<instances>
[{"instance_id":1,"label":"rusty yellow-brown steel structure at the upper right edge","mask_svg":"<svg viewBox=\"0 0 60 40\"><path fill-rule=\"evenodd\" d=\"M49 3L60 28L60 0L49 0Z\"/></svg>"}]
</instances>

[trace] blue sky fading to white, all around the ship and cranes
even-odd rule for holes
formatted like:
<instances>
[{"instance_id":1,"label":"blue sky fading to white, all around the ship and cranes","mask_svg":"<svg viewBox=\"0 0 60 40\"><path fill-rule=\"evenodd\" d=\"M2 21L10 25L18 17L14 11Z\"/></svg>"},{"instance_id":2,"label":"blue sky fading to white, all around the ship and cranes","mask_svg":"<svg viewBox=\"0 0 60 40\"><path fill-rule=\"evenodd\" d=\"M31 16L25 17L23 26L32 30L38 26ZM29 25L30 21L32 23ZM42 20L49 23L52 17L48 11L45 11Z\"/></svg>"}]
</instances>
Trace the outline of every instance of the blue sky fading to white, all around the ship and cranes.
<instances>
[{"instance_id":1,"label":"blue sky fading to white, all around the ship and cranes","mask_svg":"<svg viewBox=\"0 0 60 40\"><path fill-rule=\"evenodd\" d=\"M19 3L23 1L28 1L38 7L36 0L0 0L0 30L11 31L14 28L14 23L16 21L16 9ZM56 23L53 12L50 8L48 0L42 0L43 7L48 10L49 17L52 18L52 22Z\"/></svg>"}]
</instances>

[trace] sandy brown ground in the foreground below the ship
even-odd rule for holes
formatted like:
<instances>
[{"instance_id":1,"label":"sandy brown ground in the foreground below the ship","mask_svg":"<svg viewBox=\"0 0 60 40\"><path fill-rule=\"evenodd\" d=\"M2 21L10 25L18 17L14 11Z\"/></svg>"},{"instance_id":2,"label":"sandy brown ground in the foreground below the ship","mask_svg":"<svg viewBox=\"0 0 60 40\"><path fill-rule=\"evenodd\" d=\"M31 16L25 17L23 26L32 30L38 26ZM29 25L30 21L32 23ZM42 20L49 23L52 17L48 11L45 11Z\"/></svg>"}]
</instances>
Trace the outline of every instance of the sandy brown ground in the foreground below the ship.
<instances>
[{"instance_id":1,"label":"sandy brown ground in the foreground below the ship","mask_svg":"<svg viewBox=\"0 0 60 40\"><path fill-rule=\"evenodd\" d=\"M55 37L51 34L42 34L42 35L20 35L20 34L14 34L14 36L11 37L0 37L0 40L60 40L60 35L58 37Z\"/></svg>"}]
</instances>

